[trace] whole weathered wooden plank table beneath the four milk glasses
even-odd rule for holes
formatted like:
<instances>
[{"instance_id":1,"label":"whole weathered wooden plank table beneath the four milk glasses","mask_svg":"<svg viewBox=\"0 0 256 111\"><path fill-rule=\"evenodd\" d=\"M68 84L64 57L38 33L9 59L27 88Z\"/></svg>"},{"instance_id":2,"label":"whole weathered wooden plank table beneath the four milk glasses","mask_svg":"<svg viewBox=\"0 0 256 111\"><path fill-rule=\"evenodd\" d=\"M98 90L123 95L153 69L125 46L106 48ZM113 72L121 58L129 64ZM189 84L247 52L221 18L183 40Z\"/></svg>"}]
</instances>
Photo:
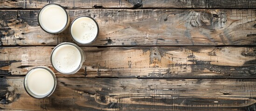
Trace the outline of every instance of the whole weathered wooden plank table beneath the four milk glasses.
<instances>
[{"instance_id":1,"label":"whole weathered wooden plank table beneath the four milk glasses","mask_svg":"<svg viewBox=\"0 0 256 111\"><path fill-rule=\"evenodd\" d=\"M53 95L34 99L25 74L74 43L38 26L48 3L100 32L78 73L55 71ZM0 0L0 110L256 111L256 0Z\"/></svg>"}]
</instances>

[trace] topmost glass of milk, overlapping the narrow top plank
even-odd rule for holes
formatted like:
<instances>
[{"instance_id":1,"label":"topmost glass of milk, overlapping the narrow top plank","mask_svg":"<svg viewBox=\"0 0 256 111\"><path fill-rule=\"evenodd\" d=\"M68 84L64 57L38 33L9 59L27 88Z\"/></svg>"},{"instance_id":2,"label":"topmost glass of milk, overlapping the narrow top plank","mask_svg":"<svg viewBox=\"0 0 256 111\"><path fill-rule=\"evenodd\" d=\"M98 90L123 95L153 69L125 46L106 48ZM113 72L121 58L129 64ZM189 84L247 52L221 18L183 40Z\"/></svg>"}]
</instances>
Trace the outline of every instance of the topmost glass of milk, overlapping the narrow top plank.
<instances>
[{"instance_id":1,"label":"topmost glass of milk, overlapping the narrow top plank","mask_svg":"<svg viewBox=\"0 0 256 111\"><path fill-rule=\"evenodd\" d=\"M60 33L69 26L69 14L58 4L43 6L37 19L42 30L52 34Z\"/></svg>"}]
</instances>

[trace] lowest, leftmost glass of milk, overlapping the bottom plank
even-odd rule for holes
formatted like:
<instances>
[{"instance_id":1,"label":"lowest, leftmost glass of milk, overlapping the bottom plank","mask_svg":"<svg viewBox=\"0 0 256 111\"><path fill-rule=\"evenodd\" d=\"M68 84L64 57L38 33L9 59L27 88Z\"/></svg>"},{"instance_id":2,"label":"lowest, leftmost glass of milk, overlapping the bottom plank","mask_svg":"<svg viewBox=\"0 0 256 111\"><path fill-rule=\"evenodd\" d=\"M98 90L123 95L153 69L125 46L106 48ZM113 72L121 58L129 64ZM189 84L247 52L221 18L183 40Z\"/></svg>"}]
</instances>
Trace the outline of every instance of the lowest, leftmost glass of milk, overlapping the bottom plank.
<instances>
[{"instance_id":1,"label":"lowest, leftmost glass of milk, overlapping the bottom plank","mask_svg":"<svg viewBox=\"0 0 256 111\"><path fill-rule=\"evenodd\" d=\"M32 68L24 79L26 92L37 99L50 96L56 88L56 77L54 72L44 66Z\"/></svg>"}]
</instances>

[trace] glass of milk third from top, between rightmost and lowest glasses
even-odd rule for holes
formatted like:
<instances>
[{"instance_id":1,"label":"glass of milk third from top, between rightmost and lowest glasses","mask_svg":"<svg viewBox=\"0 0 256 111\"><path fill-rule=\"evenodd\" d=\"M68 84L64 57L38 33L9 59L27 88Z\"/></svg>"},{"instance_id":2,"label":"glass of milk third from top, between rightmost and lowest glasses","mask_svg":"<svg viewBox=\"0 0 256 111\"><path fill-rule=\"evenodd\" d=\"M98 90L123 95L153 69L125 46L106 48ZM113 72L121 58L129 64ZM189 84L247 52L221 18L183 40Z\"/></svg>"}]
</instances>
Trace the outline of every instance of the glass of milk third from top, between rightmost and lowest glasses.
<instances>
[{"instance_id":1,"label":"glass of milk third from top, between rightmost and lowest glasses","mask_svg":"<svg viewBox=\"0 0 256 111\"><path fill-rule=\"evenodd\" d=\"M74 74L83 65L85 55L74 43L61 43L51 53L51 64L61 74Z\"/></svg>"}]
</instances>

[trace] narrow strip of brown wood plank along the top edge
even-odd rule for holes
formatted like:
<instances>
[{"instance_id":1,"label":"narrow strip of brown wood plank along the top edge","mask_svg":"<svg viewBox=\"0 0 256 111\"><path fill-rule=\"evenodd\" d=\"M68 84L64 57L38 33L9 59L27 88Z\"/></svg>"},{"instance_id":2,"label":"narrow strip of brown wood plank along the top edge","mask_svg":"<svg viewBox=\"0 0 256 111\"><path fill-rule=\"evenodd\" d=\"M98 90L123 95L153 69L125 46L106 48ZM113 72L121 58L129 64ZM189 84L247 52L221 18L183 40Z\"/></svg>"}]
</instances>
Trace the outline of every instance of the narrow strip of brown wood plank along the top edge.
<instances>
[{"instance_id":1,"label":"narrow strip of brown wood plank along the top edge","mask_svg":"<svg viewBox=\"0 0 256 111\"><path fill-rule=\"evenodd\" d=\"M0 8L256 8L256 0L0 0Z\"/></svg>"}]
</instances>

